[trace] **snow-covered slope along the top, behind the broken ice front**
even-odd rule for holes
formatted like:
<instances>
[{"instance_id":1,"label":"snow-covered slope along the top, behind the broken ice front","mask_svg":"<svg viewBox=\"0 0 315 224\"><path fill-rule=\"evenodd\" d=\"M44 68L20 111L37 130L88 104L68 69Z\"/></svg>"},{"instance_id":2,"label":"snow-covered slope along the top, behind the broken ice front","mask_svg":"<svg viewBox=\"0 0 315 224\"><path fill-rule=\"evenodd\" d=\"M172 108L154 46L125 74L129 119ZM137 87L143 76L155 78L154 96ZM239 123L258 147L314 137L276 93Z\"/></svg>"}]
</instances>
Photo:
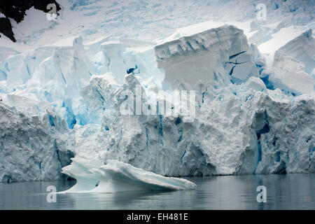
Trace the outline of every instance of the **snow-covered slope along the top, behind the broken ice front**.
<instances>
[{"instance_id":1,"label":"snow-covered slope along the top, behind the broken ice front","mask_svg":"<svg viewBox=\"0 0 315 224\"><path fill-rule=\"evenodd\" d=\"M223 23L256 20L257 6L260 3L255 0L224 2L218 0L57 0L57 2L62 8L58 11L57 20L48 21L46 13L33 8L26 12L22 22L12 21L17 43L2 44L3 35L1 35L0 45L7 48L9 46L15 48L18 45L18 51L24 52L29 48L34 49L34 47L54 43L70 36L80 35L83 36L84 41L94 41L109 34L153 41L157 38L166 38L181 27L209 20ZM43 5L43 1L38 1L38 3ZM299 27L314 29L314 1L268 0L263 3L267 9L267 20L256 20L255 24L258 24L258 27L252 26L253 30L249 31L259 31L262 36L269 36L272 34L269 30L277 28L275 25L279 23L283 27L294 25L296 29ZM216 25L218 26L220 25ZM214 27L208 29L210 28ZM244 29L244 27L239 28ZM292 30L286 31L286 34L281 36L286 38L292 32Z\"/></svg>"}]
</instances>

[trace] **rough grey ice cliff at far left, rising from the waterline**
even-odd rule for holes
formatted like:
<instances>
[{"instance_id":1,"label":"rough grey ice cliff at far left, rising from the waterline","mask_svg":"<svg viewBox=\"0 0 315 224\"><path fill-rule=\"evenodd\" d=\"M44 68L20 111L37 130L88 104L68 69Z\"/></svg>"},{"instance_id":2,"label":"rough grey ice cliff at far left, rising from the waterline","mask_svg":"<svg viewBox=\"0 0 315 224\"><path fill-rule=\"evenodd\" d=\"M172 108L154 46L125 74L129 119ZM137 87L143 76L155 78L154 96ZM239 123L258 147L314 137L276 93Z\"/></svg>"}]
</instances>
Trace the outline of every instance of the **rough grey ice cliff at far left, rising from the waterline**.
<instances>
[{"instance_id":1,"label":"rough grey ice cliff at far left, rising from the waterline","mask_svg":"<svg viewBox=\"0 0 315 224\"><path fill-rule=\"evenodd\" d=\"M0 115L1 182L59 179L73 157L64 120L52 112L27 116L2 103Z\"/></svg>"}]
</instances>

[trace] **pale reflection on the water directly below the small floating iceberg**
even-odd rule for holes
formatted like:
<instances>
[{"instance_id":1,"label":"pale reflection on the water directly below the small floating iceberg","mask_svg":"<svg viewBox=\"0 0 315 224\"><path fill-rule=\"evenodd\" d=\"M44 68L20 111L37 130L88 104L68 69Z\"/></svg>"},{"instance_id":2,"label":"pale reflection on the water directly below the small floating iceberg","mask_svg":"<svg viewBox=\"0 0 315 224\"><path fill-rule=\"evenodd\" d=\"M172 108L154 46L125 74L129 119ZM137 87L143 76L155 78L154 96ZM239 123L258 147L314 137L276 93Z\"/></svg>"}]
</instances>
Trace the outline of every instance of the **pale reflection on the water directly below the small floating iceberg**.
<instances>
[{"instance_id":1,"label":"pale reflection on the water directly below the small floating iceberg","mask_svg":"<svg viewBox=\"0 0 315 224\"><path fill-rule=\"evenodd\" d=\"M73 209L167 209L168 207L187 209L189 206L187 200L193 198L196 193L195 190L139 190L112 194L59 194L58 199L64 203L71 202Z\"/></svg>"}]
</instances>

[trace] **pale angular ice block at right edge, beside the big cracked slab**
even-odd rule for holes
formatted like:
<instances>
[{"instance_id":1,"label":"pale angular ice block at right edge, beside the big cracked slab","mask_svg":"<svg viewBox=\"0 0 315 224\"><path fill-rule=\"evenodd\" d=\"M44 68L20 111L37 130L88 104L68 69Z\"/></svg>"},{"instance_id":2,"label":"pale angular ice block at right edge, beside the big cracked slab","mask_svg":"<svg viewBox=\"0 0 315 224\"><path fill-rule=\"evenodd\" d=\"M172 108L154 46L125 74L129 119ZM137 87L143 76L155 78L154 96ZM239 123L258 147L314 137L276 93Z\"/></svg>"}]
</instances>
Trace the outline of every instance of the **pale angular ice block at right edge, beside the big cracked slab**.
<instances>
[{"instance_id":1,"label":"pale angular ice block at right edge, beside the big cracked slab","mask_svg":"<svg viewBox=\"0 0 315 224\"><path fill-rule=\"evenodd\" d=\"M283 45L274 53L269 81L273 87L293 94L314 92L315 39L311 29Z\"/></svg>"}]
</instances>

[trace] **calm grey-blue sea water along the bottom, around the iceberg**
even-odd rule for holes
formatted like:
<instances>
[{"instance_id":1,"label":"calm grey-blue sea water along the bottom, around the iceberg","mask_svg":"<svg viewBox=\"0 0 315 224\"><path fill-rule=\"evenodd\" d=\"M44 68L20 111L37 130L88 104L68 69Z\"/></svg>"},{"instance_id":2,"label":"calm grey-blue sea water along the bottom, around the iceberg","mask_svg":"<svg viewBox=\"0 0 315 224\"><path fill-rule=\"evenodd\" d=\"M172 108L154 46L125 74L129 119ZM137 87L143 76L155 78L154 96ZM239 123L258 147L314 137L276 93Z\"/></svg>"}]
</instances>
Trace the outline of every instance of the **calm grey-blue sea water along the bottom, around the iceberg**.
<instances>
[{"instance_id":1,"label":"calm grey-blue sea water along the bottom, around the iceberg","mask_svg":"<svg viewBox=\"0 0 315 224\"><path fill-rule=\"evenodd\" d=\"M197 190L57 195L46 200L47 187L62 191L75 181L1 183L0 209L315 209L315 174L211 176L188 178ZM267 202L258 203L258 186Z\"/></svg>"}]
</instances>

